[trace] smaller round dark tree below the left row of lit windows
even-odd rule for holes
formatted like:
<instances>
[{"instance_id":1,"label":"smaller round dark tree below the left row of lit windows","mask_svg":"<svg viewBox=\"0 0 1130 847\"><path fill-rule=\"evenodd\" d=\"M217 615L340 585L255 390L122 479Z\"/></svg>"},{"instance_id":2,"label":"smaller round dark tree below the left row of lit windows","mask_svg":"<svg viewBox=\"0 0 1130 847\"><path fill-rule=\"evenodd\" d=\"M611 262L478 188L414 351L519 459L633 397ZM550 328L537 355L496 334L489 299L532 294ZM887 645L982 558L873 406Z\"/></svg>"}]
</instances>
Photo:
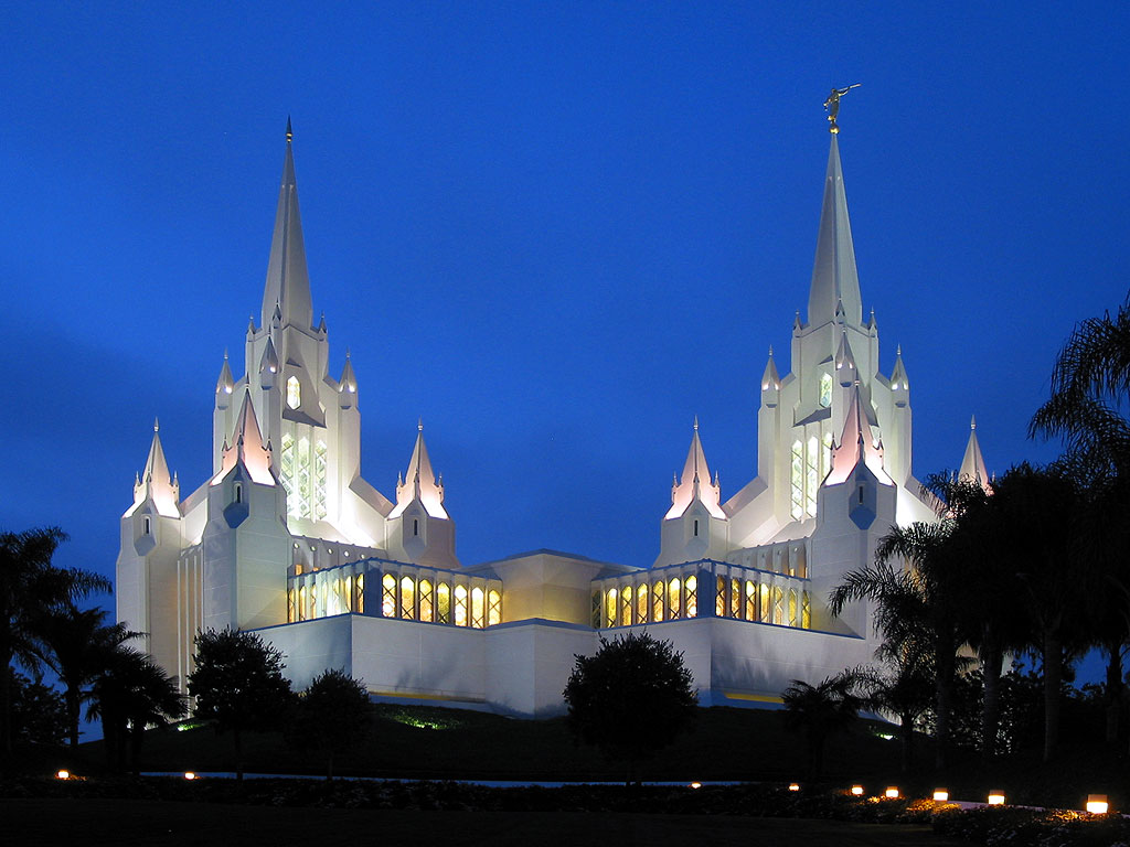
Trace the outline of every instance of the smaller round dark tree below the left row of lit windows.
<instances>
[{"instance_id":1,"label":"smaller round dark tree below the left row of lit windows","mask_svg":"<svg viewBox=\"0 0 1130 847\"><path fill-rule=\"evenodd\" d=\"M365 686L344 671L314 678L298 696L293 741L325 754L325 778L333 779L333 759L364 741L373 726L373 707Z\"/></svg>"}]
</instances>

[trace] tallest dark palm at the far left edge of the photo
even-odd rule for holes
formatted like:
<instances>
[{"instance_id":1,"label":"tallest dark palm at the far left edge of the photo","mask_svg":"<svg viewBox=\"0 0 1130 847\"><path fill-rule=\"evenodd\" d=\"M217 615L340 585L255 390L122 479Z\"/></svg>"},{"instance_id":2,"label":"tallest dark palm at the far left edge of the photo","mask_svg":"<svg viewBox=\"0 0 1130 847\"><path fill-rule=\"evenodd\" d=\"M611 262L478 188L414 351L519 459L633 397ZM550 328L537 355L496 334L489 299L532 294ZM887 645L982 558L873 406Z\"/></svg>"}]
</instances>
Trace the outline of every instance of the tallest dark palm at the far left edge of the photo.
<instances>
[{"instance_id":1,"label":"tallest dark palm at the far left edge of the photo","mask_svg":"<svg viewBox=\"0 0 1130 847\"><path fill-rule=\"evenodd\" d=\"M112 590L103 576L51 564L66 539L58 526L0 533L0 666L16 660L37 667L33 625L44 610ZM0 674L0 743L6 753L12 749L10 684L9 674Z\"/></svg>"}]
</instances>

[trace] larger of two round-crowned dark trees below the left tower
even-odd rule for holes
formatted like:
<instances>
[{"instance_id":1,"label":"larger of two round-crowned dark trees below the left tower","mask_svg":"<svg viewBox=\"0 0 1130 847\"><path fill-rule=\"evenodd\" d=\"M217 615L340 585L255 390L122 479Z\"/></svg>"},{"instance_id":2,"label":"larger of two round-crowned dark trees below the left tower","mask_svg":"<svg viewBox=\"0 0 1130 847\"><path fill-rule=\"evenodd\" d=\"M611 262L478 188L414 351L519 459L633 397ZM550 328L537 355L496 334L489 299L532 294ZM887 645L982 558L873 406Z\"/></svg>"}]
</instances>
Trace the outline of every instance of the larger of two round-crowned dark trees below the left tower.
<instances>
[{"instance_id":1,"label":"larger of two round-crowned dark trees below the left tower","mask_svg":"<svg viewBox=\"0 0 1130 847\"><path fill-rule=\"evenodd\" d=\"M282 654L254 632L209 629L197 636L195 670L189 674L189 697L198 717L231 731L235 774L243 779L243 733L280 726L294 695L282 675Z\"/></svg>"}]
</instances>

